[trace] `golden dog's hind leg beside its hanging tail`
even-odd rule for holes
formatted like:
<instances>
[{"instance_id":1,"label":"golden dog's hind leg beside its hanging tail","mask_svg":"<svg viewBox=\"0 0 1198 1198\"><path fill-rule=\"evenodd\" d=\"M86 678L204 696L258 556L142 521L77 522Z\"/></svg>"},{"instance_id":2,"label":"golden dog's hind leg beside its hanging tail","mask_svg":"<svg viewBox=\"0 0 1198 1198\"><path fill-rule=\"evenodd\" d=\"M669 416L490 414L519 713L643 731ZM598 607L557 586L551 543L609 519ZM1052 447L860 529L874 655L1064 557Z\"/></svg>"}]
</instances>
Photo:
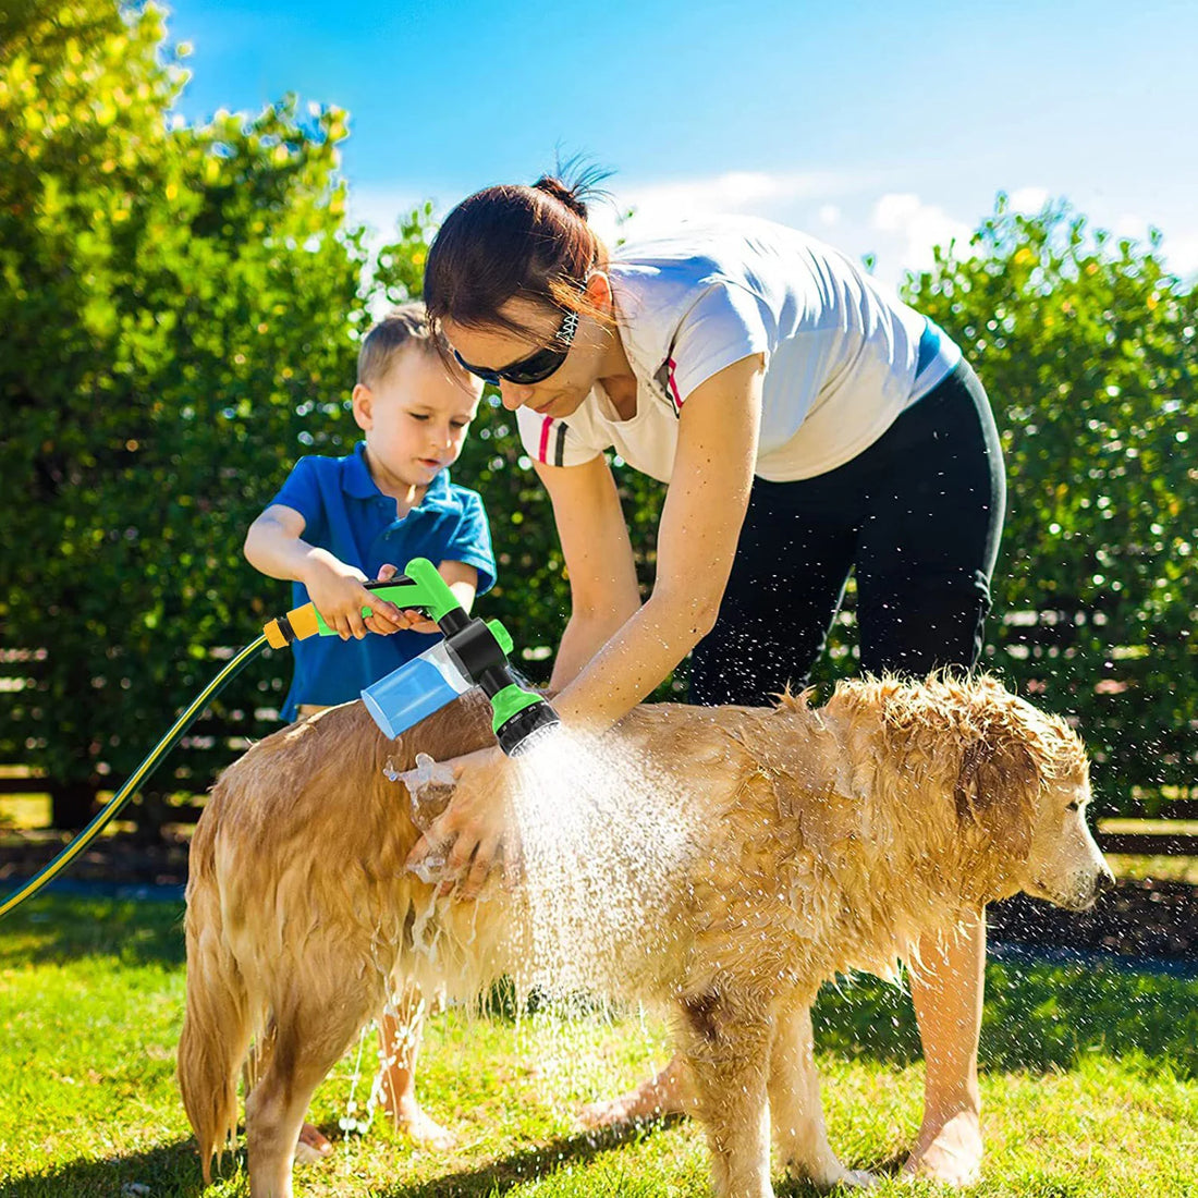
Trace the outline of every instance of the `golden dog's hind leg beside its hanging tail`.
<instances>
[{"instance_id":1,"label":"golden dog's hind leg beside its hanging tail","mask_svg":"<svg viewBox=\"0 0 1198 1198\"><path fill-rule=\"evenodd\" d=\"M276 1003L273 1042L246 1099L252 1198L292 1198L291 1160L313 1093L382 1005L381 980L356 973L326 962Z\"/></svg>"}]
</instances>

